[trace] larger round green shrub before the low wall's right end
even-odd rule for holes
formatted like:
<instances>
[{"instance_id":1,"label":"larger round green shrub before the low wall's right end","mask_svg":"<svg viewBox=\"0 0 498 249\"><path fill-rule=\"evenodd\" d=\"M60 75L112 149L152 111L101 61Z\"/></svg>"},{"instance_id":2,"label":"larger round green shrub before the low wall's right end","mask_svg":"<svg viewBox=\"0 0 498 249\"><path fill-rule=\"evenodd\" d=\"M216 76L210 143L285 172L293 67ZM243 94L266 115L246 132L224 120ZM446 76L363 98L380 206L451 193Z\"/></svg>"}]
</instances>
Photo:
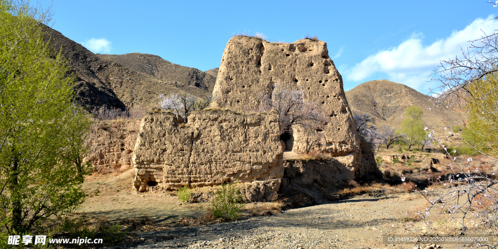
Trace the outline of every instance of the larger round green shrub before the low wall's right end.
<instances>
[{"instance_id":1,"label":"larger round green shrub before the low wall's right end","mask_svg":"<svg viewBox=\"0 0 498 249\"><path fill-rule=\"evenodd\" d=\"M223 184L221 190L217 190L211 200L211 209L215 218L224 220L235 220L242 213L242 194L236 184Z\"/></svg>"}]
</instances>

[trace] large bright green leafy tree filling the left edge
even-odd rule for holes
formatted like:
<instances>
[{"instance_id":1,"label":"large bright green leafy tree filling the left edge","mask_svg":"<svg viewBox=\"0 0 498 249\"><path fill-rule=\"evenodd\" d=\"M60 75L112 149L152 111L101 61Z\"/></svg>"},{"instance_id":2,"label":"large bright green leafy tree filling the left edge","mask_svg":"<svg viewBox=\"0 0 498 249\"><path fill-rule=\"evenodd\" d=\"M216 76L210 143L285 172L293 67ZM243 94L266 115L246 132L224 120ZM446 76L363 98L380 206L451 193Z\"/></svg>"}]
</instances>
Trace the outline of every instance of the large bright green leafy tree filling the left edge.
<instances>
[{"instance_id":1,"label":"large bright green leafy tree filling the left edge","mask_svg":"<svg viewBox=\"0 0 498 249\"><path fill-rule=\"evenodd\" d=\"M35 222L84 201L88 115L73 105L73 78L44 41L50 15L0 0L0 225L27 233Z\"/></svg>"}]
</instances>

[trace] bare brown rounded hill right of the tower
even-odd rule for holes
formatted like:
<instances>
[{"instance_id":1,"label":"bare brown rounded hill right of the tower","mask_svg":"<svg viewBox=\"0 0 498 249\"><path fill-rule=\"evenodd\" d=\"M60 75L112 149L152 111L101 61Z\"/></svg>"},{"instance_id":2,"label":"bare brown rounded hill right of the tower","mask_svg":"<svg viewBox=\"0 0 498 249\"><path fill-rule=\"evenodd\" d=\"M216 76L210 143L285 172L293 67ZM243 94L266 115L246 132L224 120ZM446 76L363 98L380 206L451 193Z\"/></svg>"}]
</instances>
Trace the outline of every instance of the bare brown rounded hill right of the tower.
<instances>
[{"instance_id":1,"label":"bare brown rounded hill right of the tower","mask_svg":"<svg viewBox=\"0 0 498 249\"><path fill-rule=\"evenodd\" d=\"M353 112L372 115L377 120L377 126L387 124L399 127L404 119L404 111L409 106L422 108L424 126L431 129L453 127L457 124L463 127L467 120L462 110L441 110L429 100L430 96L387 80L374 80L358 85L346 92L346 98Z\"/></svg>"}]
</instances>

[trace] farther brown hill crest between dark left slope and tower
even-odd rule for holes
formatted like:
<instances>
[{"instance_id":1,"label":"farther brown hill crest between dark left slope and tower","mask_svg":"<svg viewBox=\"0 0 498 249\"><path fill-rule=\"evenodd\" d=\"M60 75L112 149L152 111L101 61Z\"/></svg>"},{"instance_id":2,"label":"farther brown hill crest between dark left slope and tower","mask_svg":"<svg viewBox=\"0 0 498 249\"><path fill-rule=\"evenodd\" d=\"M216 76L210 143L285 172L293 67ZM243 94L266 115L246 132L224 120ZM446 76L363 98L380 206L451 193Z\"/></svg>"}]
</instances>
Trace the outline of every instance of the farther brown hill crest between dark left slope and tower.
<instances>
[{"instance_id":1,"label":"farther brown hill crest between dark left slope and tower","mask_svg":"<svg viewBox=\"0 0 498 249\"><path fill-rule=\"evenodd\" d=\"M199 69L180 66L153 54L97 54L97 56L118 62L123 66L161 81L173 82L181 86L197 87L211 92L216 77Z\"/></svg>"}]
</instances>

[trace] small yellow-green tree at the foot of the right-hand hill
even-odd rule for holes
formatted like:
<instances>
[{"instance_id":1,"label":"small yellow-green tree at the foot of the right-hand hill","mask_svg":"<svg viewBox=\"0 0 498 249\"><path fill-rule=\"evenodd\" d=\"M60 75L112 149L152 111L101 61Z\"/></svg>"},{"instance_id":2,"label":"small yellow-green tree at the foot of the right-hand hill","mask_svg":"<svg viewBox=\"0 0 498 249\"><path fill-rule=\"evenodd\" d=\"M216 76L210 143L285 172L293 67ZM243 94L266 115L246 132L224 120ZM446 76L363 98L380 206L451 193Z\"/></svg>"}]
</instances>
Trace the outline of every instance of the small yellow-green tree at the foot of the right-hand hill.
<instances>
[{"instance_id":1,"label":"small yellow-green tree at the foot of the right-hand hill","mask_svg":"<svg viewBox=\"0 0 498 249\"><path fill-rule=\"evenodd\" d=\"M410 106L405 111L405 118L401 122L401 132L406 134L406 144L408 149L412 145L418 144L424 140L426 132L422 124L422 109L417 106Z\"/></svg>"}]
</instances>

